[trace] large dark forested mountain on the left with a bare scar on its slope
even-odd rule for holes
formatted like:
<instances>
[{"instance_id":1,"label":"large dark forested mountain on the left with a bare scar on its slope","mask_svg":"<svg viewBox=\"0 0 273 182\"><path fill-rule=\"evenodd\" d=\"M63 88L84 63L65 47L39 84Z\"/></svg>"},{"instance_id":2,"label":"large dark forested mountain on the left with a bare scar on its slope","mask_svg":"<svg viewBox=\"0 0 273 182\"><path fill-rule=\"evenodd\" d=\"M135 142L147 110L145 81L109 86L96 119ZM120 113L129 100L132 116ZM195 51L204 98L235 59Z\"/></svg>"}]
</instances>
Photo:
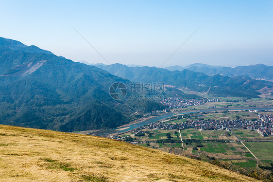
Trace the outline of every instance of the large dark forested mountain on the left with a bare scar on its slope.
<instances>
[{"instance_id":1,"label":"large dark forested mountain on the left with a bare scar on its slope","mask_svg":"<svg viewBox=\"0 0 273 182\"><path fill-rule=\"evenodd\" d=\"M150 100L114 100L108 93L114 82L130 83L95 66L0 38L0 124L59 131L105 129L130 122L136 110L164 109Z\"/></svg>"}]
</instances>

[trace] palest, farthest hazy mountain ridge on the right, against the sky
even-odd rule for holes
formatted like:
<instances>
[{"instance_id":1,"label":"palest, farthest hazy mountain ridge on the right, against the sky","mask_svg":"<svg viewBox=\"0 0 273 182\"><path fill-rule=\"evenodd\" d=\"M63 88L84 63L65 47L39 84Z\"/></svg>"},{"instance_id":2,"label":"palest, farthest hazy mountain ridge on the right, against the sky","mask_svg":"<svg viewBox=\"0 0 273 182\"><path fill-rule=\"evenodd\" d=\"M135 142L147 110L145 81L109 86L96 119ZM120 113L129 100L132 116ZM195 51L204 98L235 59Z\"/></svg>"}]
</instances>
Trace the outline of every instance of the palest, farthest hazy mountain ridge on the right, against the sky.
<instances>
[{"instance_id":1,"label":"palest, farthest hazy mountain ridge on the right, against the sky","mask_svg":"<svg viewBox=\"0 0 273 182\"><path fill-rule=\"evenodd\" d=\"M222 66L210 66L206 64L195 63L188 65L187 67L170 66L165 69L170 71L182 71L190 70L194 72L201 72L207 75L221 74L223 76L249 76L254 79L265 79L273 81L273 66L267 66L263 64L256 64L250 66L238 66L235 68L222 67Z\"/></svg>"}]
</instances>

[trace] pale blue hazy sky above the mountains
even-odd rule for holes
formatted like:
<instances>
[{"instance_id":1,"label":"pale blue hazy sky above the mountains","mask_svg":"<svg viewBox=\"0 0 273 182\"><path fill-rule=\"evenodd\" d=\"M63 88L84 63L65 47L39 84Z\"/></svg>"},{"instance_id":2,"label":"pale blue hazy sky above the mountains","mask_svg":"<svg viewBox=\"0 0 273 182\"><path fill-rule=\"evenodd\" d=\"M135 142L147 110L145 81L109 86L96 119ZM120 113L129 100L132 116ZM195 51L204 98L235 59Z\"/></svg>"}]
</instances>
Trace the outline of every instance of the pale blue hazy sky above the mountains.
<instances>
[{"instance_id":1,"label":"pale blue hazy sky above the mountains","mask_svg":"<svg viewBox=\"0 0 273 182\"><path fill-rule=\"evenodd\" d=\"M0 36L73 61L273 66L273 0L0 0Z\"/></svg>"}]
</instances>

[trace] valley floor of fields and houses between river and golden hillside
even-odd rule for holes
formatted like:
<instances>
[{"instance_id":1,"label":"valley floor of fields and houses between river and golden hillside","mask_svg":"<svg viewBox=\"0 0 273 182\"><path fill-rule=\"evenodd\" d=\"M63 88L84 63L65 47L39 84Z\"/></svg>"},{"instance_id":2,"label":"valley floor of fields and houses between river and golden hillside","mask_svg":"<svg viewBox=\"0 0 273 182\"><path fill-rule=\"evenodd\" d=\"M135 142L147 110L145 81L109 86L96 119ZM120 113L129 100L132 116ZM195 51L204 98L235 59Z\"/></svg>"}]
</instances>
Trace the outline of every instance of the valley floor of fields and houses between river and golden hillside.
<instances>
[{"instance_id":1,"label":"valley floor of fields and houses between river and golden hillside","mask_svg":"<svg viewBox=\"0 0 273 182\"><path fill-rule=\"evenodd\" d=\"M216 164L245 175L255 169L259 171L261 176L266 176L267 171L264 171L262 166L270 166L273 163L273 132L268 136L262 136L262 132L255 127L240 129L241 122L235 128L232 127L232 123L227 124L228 129L225 127L215 128L220 123L220 126L225 126L220 121L231 120L234 122L238 118L240 121L259 119L257 112L236 109L226 111L228 110L192 112L183 114L182 118L177 117L181 116L177 114L170 119L121 133L117 135L117 138L136 145ZM273 116L273 111L258 113L262 114L262 117ZM217 124L211 125L215 128L213 130L204 130L197 126L182 128L184 124L193 120L197 120L198 126L202 120L216 120ZM273 128L272 119L269 121L270 123L271 125L268 127ZM203 122L203 124L205 123Z\"/></svg>"}]
</instances>

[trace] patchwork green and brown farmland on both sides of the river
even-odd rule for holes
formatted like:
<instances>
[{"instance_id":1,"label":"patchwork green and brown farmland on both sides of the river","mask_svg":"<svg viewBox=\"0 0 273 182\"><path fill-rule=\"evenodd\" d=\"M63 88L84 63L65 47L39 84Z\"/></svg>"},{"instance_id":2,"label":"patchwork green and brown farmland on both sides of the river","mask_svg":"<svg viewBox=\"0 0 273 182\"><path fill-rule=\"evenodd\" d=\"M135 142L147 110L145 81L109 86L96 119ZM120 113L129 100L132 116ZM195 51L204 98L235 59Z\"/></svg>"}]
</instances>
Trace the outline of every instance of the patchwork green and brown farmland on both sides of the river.
<instances>
[{"instance_id":1,"label":"patchwork green and brown farmland on both sides of the river","mask_svg":"<svg viewBox=\"0 0 273 182\"><path fill-rule=\"evenodd\" d=\"M272 114L272 112L264 112ZM181 118L174 121L167 121L166 124L177 124L188 120L196 119L214 119L224 120L226 118L240 119L257 119L255 112L230 111L208 112L193 114L188 118ZM124 138L132 138L131 142L137 145L156 148L165 152L186 155L189 158L200 159L203 161L218 161L224 163L227 168L232 170L247 170L258 168L258 165L270 165L273 163L273 136L263 137L253 129L233 129L232 131L242 140L239 139L229 130L197 130L194 128L181 129L141 129L142 134L136 134L134 131L121 134ZM138 131L139 132L139 131ZM119 136L120 140L124 138ZM260 170L260 169L259 169Z\"/></svg>"}]
</instances>

